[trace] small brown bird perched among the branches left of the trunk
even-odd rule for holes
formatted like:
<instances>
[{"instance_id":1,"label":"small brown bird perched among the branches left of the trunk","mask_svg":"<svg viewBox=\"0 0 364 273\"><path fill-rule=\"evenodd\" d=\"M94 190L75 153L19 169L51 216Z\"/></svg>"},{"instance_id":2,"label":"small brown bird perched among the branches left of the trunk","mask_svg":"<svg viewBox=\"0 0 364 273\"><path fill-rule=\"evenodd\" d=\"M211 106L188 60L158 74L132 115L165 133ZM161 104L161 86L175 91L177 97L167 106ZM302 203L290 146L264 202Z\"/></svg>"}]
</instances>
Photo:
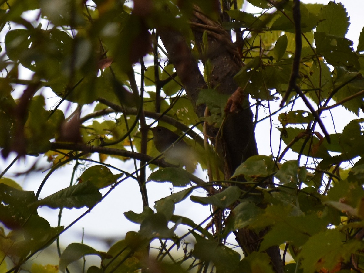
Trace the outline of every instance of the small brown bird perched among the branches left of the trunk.
<instances>
[{"instance_id":1,"label":"small brown bird perched among the branches left of the trunk","mask_svg":"<svg viewBox=\"0 0 364 273\"><path fill-rule=\"evenodd\" d=\"M175 164L183 164L186 166L187 171L194 171L195 169L195 153L190 145L183 139L179 140L178 134L163 127L156 126L150 128L153 133L153 142L158 152L165 152L166 159L170 159Z\"/></svg>"}]
</instances>

